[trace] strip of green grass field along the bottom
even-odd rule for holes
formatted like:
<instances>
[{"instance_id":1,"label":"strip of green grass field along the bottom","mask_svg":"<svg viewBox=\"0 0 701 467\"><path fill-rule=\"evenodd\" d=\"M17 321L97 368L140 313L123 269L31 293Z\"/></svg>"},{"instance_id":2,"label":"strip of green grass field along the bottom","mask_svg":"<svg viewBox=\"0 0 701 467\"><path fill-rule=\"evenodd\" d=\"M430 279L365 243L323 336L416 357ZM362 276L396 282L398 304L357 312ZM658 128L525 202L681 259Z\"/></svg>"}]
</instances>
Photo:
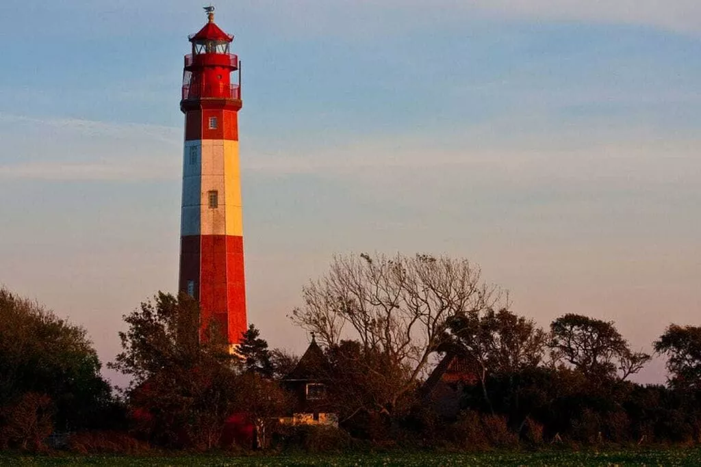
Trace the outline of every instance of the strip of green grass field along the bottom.
<instances>
[{"instance_id":1,"label":"strip of green grass field along the bottom","mask_svg":"<svg viewBox=\"0 0 701 467\"><path fill-rule=\"evenodd\" d=\"M299 454L294 456L20 456L1 466L701 466L701 449L476 454Z\"/></svg>"}]
</instances>

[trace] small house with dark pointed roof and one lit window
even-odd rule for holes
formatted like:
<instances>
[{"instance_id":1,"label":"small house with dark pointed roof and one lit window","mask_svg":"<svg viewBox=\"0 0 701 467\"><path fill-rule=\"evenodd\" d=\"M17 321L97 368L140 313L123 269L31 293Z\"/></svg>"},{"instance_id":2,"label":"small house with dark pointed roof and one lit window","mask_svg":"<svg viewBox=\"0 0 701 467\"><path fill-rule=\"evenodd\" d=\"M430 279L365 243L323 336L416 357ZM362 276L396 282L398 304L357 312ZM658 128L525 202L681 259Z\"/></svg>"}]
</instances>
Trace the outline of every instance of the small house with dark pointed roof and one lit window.
<instances>
[{"instance_id":1,"label":"small house with dark pointed roof and one lit window","mask_svg":"<svg viewBox=\"0 0 701 467\"><path fill-rule=\"evenodd\" d=\"M338 426L338 414L330 409L327 385L331 365L312 335L311 343L294 370L283 381L283 387L296 397L296 409L280 419L287 425Z\"/></svg>"}]
</instances>

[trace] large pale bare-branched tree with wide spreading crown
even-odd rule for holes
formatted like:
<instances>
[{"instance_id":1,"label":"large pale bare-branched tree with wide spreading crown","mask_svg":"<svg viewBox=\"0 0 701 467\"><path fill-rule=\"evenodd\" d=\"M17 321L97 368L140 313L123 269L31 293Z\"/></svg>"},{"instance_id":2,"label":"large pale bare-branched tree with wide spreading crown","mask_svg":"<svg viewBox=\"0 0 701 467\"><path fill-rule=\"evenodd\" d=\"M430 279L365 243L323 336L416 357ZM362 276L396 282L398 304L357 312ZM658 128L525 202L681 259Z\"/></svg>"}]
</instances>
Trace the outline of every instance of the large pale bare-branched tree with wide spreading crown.
<instances>
[{"instance_id":1,"label":"large pale bare-branched tree with wide spreading crown","mask_svg":"<svg viewBox=\"0 0 701 467\"><path fill-rule=\"evenodd\" d=\"M304 306L290 318L321 344L358 340L365 355L383 356L384 365L406 369L393 381L389 406L427 370L452 316L483 312L503 301L501 291L485 284L479 267L468 260L365 253L335 256L329 272L305 286L302 297Z\"/></svg>"}]
</instances>

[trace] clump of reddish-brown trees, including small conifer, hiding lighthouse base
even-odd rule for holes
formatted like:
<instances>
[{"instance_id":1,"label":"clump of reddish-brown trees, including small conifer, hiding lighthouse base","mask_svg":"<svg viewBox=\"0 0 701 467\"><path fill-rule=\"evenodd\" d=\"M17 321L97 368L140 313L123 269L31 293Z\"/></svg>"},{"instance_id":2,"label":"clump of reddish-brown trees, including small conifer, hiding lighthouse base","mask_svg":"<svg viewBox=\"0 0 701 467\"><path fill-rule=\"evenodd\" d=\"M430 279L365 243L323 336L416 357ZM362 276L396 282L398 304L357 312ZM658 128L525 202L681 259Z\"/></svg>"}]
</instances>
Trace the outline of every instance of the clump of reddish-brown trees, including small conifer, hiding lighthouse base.
<instances>
[{"instance_id":1,"label":"clump of reddish-brown trees, including small conifer, hiding lighthouse base","mask_svg":"<svg viewBox=\"0 0 701 467\"><path fill-rule=\"evenodd\" d=\"M127 395L139 433L159 445L210 449L224 442L232 417L243 414L236 423L254 426L265 445L267 420L280 416L288 400L270 378L268 343L255 326L231 354L217 328L200 336L196 300L162 292L124 321L122 351L110 366L133 378Z\"/></svg>"}]
</instances>

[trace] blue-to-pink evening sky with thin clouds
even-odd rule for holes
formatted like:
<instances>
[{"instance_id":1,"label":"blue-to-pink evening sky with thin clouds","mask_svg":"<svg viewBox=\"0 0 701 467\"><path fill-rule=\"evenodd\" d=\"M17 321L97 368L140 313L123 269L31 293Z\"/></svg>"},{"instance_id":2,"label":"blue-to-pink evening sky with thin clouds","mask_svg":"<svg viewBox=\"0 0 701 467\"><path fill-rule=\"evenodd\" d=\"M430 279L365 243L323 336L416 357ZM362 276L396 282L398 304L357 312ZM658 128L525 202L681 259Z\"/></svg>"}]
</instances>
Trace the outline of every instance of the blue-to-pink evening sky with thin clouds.
<instances>
[{"instance_id":1,"label":"blue-to-pink evening sky with thin clouds","mask_svg":"<svg viewBox=\"0 0 701 467\"><path fill-rule=\"evenodd\" d=\"M0 3L0 284L88 329L175 292L192 0ZM701 2L240 0L249 321L334 253L468 258L547 326L701 324ZM119 378L106 374L114 381ZM637 376L664 382L664 362Z\"/></svg>"}]
</instances>

